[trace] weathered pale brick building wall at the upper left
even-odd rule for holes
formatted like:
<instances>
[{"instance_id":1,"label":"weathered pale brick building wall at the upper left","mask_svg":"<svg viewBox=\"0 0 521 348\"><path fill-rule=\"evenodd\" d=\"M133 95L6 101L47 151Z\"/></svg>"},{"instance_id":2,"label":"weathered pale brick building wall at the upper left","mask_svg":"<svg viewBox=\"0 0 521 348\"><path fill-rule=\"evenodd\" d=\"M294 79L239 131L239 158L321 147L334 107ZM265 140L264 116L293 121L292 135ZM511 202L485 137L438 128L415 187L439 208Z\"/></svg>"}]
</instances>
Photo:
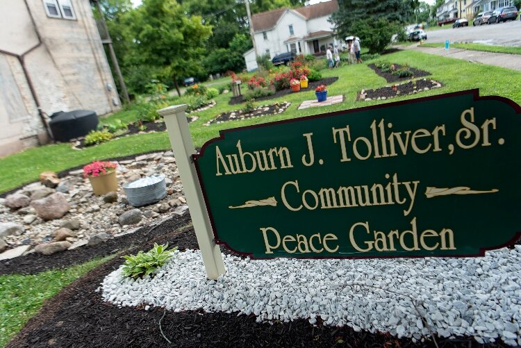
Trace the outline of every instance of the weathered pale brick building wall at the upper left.
<instances>
[{"instance_id":1,"label":"weathered pale brick building wall at the upper left","mask_svg":"<svg viewBox=\"0 0 521 348\"><path fill-rule=\"evenodd\" d=\"M45 143L46 115L119 104L90 0L0 1L0 156Z\"/></svg>"}]
</instances>

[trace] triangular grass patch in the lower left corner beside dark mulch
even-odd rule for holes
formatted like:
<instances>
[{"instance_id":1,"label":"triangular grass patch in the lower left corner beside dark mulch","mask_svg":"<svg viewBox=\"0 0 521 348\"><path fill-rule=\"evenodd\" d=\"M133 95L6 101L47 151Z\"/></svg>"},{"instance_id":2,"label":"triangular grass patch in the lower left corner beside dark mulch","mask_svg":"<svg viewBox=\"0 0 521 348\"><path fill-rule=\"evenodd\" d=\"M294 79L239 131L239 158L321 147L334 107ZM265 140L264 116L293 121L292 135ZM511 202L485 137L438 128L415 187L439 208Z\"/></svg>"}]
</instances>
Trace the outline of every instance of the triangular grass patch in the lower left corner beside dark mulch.
<instances>
[{"instance_id":1,"label":"triangular grass patch in the lower left corner beside dark mulch","mask_svg":"<svg viewBox=\"0 0 521 348\"><path fill-rule=\"evenodd\" d=\"M112 257L96 258L64 270L0 276L0 347L4 347L38 313L46 299Z\"/></svg>"}]
</instances>

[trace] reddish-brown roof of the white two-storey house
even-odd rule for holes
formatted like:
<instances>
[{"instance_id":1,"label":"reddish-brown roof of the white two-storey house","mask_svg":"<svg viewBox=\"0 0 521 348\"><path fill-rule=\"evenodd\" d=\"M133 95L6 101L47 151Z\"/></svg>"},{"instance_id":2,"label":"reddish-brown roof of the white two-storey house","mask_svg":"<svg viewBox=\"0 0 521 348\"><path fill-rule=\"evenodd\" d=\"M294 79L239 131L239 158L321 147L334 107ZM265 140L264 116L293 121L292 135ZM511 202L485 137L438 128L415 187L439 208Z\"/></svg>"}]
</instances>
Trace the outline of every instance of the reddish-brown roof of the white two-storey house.
<instances>
[{"instance_id":1,"label":"reddish-brown roof of the white two-storey house","mask_svg":"<svg viewBox=\"0 0 521 348\"><path fill-rule=\"evenodd\" d=\"M251 25L254 31L265 31L273 28L287 10L290 9L277 8L276 10L256 13L251 16ZM298 15L305 17L307 20L331 15L336 10L338 10L337 0L315 3L315 5L295 9Z\"/></svg>"}]
</instances>

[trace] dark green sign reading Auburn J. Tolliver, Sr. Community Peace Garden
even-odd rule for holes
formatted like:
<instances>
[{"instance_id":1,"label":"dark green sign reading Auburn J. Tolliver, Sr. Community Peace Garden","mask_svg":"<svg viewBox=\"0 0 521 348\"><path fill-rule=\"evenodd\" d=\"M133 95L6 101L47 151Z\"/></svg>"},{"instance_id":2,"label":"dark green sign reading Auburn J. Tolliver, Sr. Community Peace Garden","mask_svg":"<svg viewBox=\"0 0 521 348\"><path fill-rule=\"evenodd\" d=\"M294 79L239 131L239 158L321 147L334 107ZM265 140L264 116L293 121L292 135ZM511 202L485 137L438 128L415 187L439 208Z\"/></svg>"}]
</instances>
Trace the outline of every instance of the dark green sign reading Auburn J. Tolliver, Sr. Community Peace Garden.
<instances>
[{"instance_id":1,"label":"dark green sign reading Auburn J. Tolliver, Sr. Community Peace Garden","mask_svg":"<svg viewBox=\"0 0 521 348\"><path fill-rule=\"evenodd\" d=\"M521 108L468 90L229 129L195 164L254 258L480 256L520 237Z\"/></svg>"}]
</instances>

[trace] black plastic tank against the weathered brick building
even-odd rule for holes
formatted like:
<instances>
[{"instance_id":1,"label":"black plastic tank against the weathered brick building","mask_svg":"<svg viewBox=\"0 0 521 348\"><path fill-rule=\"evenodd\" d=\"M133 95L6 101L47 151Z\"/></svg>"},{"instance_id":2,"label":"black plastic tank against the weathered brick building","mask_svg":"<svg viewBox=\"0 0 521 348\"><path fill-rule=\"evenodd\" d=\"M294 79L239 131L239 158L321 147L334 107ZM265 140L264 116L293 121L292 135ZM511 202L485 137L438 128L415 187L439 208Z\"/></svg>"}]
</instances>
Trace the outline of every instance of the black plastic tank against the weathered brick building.
<instances>
[{"instance_id":1,"label":"black plastic tank against the weathered brick building","mask_svg":"<svg viewBox=\"0 0 521 348\"><path fill-rule=\"evenodd\" d=\"M98 126L98 115L91 110L74 110L68 113L53 113L49 127L54 141L68 142L87 135Z\"/></svg>"}]
</instances>

